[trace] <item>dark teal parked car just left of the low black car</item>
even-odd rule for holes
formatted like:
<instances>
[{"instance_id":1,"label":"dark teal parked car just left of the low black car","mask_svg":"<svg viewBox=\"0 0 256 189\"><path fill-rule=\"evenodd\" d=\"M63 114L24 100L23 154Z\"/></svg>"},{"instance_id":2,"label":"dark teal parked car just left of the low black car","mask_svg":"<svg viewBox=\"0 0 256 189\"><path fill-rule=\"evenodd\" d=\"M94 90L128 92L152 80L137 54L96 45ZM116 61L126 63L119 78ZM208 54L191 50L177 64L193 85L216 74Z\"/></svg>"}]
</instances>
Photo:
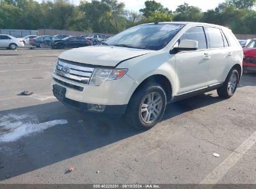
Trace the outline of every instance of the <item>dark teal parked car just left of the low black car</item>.
<instances>
[{"instance_id":1,"label":"dark teal parked car just left of the low black car","mask_svg":"<svg viewBox=\"0 0 256 189\"><path fill-rule=\"evenodd\" d=\"M29 45L44 48L51 47L54 44L55 37L49 35L42 35L29 40Z\"/></svg>"}]
</instances>

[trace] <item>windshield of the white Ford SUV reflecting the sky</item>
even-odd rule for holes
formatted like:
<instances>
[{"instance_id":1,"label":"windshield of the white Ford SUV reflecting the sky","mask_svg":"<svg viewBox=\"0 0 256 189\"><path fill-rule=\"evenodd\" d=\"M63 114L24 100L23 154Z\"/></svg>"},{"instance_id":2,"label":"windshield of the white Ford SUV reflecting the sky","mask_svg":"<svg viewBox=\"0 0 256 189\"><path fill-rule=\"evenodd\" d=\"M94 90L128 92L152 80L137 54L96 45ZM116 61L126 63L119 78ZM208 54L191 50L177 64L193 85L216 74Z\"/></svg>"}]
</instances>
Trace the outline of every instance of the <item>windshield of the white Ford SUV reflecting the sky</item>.
<instances>
[{"instance_id":1,"label":"windshield of the white Ford SUV reflecting the sky","mask_svg":"<svg viewBox=\"0 0 256 189\"><path fill-rule=\"evenodd\" d=\"M137 25L111 37L103 45L160 50L173 39L183 26L180 24Z\"/></svg>"}]
</instances>

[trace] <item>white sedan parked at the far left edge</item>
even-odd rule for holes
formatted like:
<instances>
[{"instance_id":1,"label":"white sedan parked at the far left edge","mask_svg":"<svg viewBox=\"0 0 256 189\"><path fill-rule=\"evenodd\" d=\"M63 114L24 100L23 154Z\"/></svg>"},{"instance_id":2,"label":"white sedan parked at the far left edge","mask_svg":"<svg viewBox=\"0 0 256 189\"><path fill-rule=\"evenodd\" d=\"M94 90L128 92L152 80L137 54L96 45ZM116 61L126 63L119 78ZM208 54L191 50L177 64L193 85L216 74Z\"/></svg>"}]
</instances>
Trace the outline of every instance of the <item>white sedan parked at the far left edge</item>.
<instances>
[{"instance_id":1,"label":"white sedan parked at the far left edge","mask_svg":"<svg viewBox=\"0 0 256 189\"><path fill-rule=\"evenodd\" d=\"M21 39L17 39L11 35L0 34L0 48L15 50L17 47L24 47Z\"/></svg>"}]
</instances>

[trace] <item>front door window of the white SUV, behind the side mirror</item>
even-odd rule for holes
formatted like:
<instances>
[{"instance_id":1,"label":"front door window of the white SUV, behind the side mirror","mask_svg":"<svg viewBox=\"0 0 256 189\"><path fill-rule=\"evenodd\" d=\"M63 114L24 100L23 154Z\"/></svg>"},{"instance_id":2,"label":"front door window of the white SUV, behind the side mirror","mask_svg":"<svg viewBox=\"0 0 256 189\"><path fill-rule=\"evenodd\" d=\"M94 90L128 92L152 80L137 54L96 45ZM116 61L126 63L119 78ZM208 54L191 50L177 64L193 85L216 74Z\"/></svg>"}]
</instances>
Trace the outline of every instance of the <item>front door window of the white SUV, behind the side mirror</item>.
<instances>
[{"instance_id":1,"label":"front door window of the white SUV, behind the side mirror","mask_svg":"<svg viewBox=\"0 0 256 189\"><path fill-rule=\"evenodd\" d=\"M206 49L206 34L204 33L204 29L202 27L191 27L186 30L186 32L181 35L179 40L196 40L198 42L198 49Z\"/></svg>"}]
</instances>

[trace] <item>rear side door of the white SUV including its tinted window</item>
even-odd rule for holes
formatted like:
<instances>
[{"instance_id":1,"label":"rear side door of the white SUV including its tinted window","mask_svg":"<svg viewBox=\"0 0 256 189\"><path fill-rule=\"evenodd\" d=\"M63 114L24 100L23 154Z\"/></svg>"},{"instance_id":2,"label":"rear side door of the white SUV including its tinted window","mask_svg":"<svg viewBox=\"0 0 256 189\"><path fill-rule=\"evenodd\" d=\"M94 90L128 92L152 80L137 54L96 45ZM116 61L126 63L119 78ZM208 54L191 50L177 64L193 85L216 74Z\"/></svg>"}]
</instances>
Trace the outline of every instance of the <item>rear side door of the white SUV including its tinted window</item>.
<instances>
[{"instance_id":1,"label":"rear side door of the white SUV including its tinted window","mask_svg":"<svg viewBox=\"0 0 256 189\"><path fill-rule=\"evenodd\" d=\"M211 48L212 59L210 69L210 85L225 81L230 64L234 62L233 52L229 47L227 37L217 27L206 27L206 34Z\"/></svg>"}]
</instances>

